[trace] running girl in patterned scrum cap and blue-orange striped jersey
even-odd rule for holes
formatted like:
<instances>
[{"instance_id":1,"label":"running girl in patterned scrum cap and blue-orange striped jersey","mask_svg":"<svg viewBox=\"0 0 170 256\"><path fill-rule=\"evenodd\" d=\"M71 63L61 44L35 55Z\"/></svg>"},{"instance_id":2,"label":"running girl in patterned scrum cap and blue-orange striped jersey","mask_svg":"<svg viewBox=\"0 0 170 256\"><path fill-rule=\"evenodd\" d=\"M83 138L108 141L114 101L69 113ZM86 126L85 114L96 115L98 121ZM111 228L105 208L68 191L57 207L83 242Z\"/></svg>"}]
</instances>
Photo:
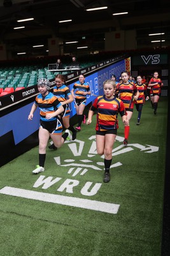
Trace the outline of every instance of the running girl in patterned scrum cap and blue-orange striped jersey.
<instances>
[{"instance_id":1,"label":"running girl in patterned scrum cap and blue-orange striped jersey","mask_svg":"<svg viewBox=\"0 0 170 256\"><path fill-rule=\"evenodd\" d=\"M59 148L66 140L68 133L62 135L62 124L58 115L64 111L57 97L50 92L50 83L46 79L38 80L39 94L32 105L28 120L32 120L34 111L40 110L39 124L39 164L32 173L37 174L45 171L46 145L52 138L55 147Z\"/></svg>"}]
</instances>

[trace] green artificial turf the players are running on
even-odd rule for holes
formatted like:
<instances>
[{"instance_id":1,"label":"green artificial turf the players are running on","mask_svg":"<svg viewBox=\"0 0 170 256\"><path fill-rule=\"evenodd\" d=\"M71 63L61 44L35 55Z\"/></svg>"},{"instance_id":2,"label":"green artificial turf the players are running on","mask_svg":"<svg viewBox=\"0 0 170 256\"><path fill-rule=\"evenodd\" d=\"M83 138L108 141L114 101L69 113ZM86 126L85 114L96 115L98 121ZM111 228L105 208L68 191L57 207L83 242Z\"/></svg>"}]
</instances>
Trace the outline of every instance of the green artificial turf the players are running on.
<instances>
[{"instance_id":1,"label":"green artificial turf the players are running on","mask_svg":"<svg viewBox=\"0 0 170 256\"><path fill-rule=\"evenodd\" d=\"M103 183L103 158L96 154L95 139L91 138L95 135L96 116L91 125L82 125L76 141L64 143L56 151L46 149L45 172L32 175L38 164L38 147L1 167L0 189L9 186L120 207L117 214L111 214L22 198L22 194L0 193L0 255L160 256L167 98L160 98L157 116L153 115L150 102L146 102L139 126L137 115L134 109L128 147L122 147L119 139L115 141L112 164L120 165L111 168L108 184ZM123 138L124 127L120 116L118 119L118 136ZM75 156L76 150L71 150L71 145L81 154ZM150 146L158 150L150 152ZM121 151L128 148L127 152ZM64 166L69 163L77 166ZM86 168L85 164L102 170ZM80 172L75 173L78 168ZM43 184L35 186L41 176L61 179L48 188ZM77 186L69 190L64 187L66 182L77 182ZM86 190L88 182L91 186ZM95 184L100 184L100 188L91 195Z\"/></svg>"}]
</instances>

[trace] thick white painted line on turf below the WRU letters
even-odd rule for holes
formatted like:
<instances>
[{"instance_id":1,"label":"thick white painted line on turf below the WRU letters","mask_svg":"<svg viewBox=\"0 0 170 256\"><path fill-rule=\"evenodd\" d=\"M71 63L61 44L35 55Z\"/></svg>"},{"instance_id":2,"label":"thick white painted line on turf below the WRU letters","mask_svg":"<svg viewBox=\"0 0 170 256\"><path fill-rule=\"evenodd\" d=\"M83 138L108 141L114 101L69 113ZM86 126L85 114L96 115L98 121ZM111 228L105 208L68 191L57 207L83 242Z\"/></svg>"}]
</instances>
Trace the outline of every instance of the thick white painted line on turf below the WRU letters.
<instances>
[{"instance_id":1,"label":"thick white painted line on turf below the WRU letters","mask_svg":"<svg viewBox=\"0 0 170 256\"><path fill-rule=\"evenodd\" d=\"M43 202L50 202L53 204L69 205L94 211L108 212L111 214L117 214L118 208L120 207L119 204L111 204L95 200L76 198L72 196L54 195L27 189L12 188L8 186L0 189L0 193L4 195L18 196Z\"/></svg>"}]
</instances>

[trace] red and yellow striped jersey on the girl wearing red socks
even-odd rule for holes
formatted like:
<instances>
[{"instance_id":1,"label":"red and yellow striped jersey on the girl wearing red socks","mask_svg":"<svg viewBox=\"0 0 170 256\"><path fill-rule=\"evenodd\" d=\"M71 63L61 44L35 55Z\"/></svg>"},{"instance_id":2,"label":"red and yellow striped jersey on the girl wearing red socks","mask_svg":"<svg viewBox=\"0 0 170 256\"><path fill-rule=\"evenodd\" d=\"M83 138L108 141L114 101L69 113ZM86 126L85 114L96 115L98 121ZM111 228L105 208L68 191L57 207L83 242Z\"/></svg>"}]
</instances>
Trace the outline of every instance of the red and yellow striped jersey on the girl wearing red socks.
<instances>
[{"instance_id":1,"label":"red and yellow striped jersey on the girl wearing red socks","mask_svg":"<svg viewBox=\"0 0 170 256\"><path fill-rule=\"evenodd\" d=\"M125 109L133 109L134 102L133 102L133 95L138 90L134 83L118 83L116 93L118 93L119 98L124 102Z\"/></svg>"}]
</instances>

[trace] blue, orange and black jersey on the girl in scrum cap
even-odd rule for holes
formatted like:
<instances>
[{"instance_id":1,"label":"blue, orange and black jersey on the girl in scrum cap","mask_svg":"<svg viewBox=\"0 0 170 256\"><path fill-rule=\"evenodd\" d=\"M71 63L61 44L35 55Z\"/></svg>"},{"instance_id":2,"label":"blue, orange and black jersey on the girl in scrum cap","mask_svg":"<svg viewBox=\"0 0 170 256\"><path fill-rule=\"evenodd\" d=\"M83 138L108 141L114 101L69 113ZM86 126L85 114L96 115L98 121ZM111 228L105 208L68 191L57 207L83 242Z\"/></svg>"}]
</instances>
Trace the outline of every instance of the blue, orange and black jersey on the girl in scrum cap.
<instances>
[{"instance_id":1,"label":"blue, orange and black jersey on the girl in scrum cap","mask_svg":"<svg viewBox=\"0 0 170 256\"><path fill-rule=\"evenodd\" d=\"M40 119L46 122L56 120L57 116L51 119L46 119L45 116L47 113L55 112L60 106L62 106L57 97L55 97L51 92L49 92L45 97L43 97L41 93L37 95L34 104L38 105L40 110Z\"/></svg>"}]
</instances>

